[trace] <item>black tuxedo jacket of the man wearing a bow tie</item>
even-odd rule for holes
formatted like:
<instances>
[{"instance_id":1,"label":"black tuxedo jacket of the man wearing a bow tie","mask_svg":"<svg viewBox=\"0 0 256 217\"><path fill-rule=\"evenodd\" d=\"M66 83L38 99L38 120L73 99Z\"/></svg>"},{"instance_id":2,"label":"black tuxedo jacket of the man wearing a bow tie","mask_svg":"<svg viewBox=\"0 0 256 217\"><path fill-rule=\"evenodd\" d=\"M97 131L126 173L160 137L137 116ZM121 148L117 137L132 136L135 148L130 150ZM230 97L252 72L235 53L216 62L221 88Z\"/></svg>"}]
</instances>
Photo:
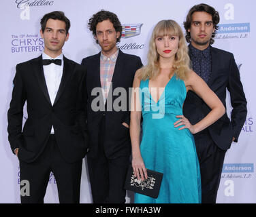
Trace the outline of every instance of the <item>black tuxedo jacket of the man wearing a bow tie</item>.
<instances>
[{"instance_id":1,"label":"black tuxedo jacket of the man wearing a bow tie","mask_svg":"<svg viewBox=\"0 0 256 217\"><path fill-rule=\"evenodd\" d=\"M42 153L52 125L66 161L78 161L86 154L86 71L72 60L65 57L63 60L63 75L53 106L44 78L42 55L16 66L7 131L12 151L19 148L18 158L27 163ZM25 101L28 117L22 130Z\"/></svg>"}]
</instances>

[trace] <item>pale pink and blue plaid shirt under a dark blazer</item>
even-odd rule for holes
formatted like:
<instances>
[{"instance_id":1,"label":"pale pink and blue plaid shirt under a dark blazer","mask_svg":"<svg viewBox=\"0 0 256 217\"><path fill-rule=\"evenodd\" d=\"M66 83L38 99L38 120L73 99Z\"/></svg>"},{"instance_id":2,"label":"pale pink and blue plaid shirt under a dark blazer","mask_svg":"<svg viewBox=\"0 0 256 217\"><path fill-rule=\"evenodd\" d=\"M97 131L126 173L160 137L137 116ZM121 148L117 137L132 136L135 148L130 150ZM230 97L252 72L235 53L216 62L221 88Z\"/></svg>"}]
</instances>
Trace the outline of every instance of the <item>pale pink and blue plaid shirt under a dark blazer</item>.
<instances>
[{"instance_id":1,"label":"pale pink and blue plaid shirt under a dark blazer","mask_svg":"<svg viewBox=\"0 0 256 217\"><path fill-rule=\"evenodd\" d=\"M100 58L100 79L101 79L101 89L103 94L104 103L108 98L108 92L110 91L110 85L112 77L114 74L114 66L116 66L116 59L118 56L118 50L112 54L110 57L104 56L101 53Z\"/></svg>"}]
</instances>

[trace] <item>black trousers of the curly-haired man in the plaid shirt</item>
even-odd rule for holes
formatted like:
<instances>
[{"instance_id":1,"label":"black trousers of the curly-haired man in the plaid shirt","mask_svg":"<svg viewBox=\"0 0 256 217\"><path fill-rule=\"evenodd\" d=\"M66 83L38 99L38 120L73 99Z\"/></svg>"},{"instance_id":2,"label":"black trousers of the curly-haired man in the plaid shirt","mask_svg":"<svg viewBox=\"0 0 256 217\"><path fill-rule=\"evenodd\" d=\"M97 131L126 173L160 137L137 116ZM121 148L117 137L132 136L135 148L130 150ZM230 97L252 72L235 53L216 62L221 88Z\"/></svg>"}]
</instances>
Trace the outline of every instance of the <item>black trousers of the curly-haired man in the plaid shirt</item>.
<instances>
[{"instance_id":1,"label":"black trousers of the curly-haired man in the plaid shirt","mask_svg":"<svg viewBox=\"0 0 256 217\"><path fill-rule=\"evenodd\" d=\"M105 119L101 121L101 132L105 132ZM87 155L93 203L125 203L124 189L130 153L127 156L108 159L103 147L103 136L96 157Z\"/></svg>"}]
</instances>

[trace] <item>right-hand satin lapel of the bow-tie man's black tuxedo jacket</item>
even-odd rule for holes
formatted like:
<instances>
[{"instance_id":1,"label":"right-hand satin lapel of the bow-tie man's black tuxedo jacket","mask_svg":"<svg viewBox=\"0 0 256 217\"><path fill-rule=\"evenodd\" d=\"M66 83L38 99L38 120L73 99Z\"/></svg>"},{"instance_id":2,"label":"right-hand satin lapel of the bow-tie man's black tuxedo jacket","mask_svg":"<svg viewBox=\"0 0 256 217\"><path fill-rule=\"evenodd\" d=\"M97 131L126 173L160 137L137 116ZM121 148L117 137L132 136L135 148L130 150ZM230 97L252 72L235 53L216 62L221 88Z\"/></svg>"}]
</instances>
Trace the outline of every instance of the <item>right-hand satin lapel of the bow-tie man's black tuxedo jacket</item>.
<instances>
[{"instance_id":1,"label":"right-hand satin lapel of the bow-tie man's black tuxedo jacket","mask_svg":"<svg viewBox=\"0 0 256 217\"><path fill-rule=\"evenodd\" d=\"M57 103L57 101L61 97L61 94L63 93L63 90L65 90L65 85L67 84L67 81L69 80L69 77L71 76L71 74L74 70L73 64L71 64L69 62L69 60L67 58L65 58L65 56L63 56L63 60L64 60L63 61L64 62L63 74L62 74L62 77L61 77L61 83L59 85L59 90L58 90L57 95L55 97L53 106Z\"/></svg>"}]
</instances>

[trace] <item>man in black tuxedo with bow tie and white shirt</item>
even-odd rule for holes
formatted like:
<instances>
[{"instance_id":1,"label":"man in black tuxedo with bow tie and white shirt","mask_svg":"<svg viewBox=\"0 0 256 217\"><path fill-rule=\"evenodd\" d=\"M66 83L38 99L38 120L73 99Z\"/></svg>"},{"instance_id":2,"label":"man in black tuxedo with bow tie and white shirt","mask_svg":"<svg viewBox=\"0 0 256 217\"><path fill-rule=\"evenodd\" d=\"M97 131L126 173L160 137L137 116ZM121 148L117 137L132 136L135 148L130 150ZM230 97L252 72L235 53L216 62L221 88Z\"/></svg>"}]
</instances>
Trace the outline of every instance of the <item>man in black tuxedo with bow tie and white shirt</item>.
<instances>
[{"instance_id":1,"label":"man in black tuxedo with bow tie and white shirt","mask_svg":"<svg viewBox=\"0 0 256 217\"><path fill-rule=\"evenodd\" d=\"M51 12L41 20L44 53L17 64L8 115L12 151L20 161L20 181L29 182L22 203L43 203L50 172L60 203L79 203L82 158L86 144L86 71L68 60L62 47L69 19ZM23 106L27 121L22 130Z\"/></svg>"}]
</instances>

